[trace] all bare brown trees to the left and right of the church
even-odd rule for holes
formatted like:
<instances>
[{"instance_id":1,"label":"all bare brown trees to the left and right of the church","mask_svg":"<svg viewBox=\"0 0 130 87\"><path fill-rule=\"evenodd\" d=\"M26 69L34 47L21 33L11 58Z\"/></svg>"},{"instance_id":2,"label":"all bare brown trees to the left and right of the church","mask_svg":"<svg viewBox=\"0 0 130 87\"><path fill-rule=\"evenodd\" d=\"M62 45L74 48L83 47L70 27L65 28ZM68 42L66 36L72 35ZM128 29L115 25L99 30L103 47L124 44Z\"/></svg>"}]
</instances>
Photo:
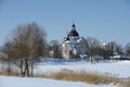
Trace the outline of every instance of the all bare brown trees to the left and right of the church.
<instances>
[{"instance_id":1,"label":"all bare brown trees to the left and right of the church","mask_svg":"<svg viewBox=\"0 0 130 87\"><path fill-rule=\"evenodd\" d=\"M94 37L83 38L83 44L88 48L88 57L101 55L105 59L113 57L114 53L130 57L130 44L125 48L121 45L110 41L105 48L101 48L101 42ZM34 66L37 61L44 57L62 58L61 44L58 40L47 42L47 33L37 23L18 25L9 40L4 44L4 53L8 62L8 72L11 73L11 64L15 64L21 76L34 75Z\"/></svg>"}]
</instances>

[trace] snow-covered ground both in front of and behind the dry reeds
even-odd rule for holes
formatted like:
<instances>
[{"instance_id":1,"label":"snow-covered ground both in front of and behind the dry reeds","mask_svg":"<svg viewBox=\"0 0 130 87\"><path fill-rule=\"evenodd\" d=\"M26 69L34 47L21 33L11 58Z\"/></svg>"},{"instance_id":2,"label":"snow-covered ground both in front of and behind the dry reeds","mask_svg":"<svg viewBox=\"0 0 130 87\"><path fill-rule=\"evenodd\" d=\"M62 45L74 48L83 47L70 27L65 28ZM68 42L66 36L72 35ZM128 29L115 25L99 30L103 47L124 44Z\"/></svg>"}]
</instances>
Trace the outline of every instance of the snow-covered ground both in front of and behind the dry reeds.
<instances>
[{"instance_id":1,"label":"snow-covered ground both in front of and behind the dry reeds","mask_svg":"<svg viewBox=\"0 0 130 87\"><path fill-rule=\"evenodd\" d=\"M130 77L130 61L102 61L102 62L55 62L46 61L36 64L35 74L49 74L61 70L87 71L90 73L105 73L117 77ZM65 82L47 78L22 78L0 76L0 87L116 87L113 85L89 85L87 83Z\"/></svg>"}]
</instances>

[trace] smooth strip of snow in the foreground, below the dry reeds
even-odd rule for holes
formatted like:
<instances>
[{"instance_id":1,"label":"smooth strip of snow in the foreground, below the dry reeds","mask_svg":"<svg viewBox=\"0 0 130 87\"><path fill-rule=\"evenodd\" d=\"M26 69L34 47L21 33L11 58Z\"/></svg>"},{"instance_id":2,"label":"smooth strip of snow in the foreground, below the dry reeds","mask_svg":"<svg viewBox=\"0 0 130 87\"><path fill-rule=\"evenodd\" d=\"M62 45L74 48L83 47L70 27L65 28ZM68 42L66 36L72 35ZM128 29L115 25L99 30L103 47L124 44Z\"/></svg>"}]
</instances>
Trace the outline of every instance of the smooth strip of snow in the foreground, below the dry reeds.
<instances>
[{"instance_id":1,"label":"smooth strip of snow in the foreground, below the dry reeds","mask_svg":"<svg viewBox=\"0 0 130 87\"><path fill-rule=\"evenodd\" d=\"M0 87L115 87L113 85L89 85L47 78L0 76Z\"/></svg>"}]
</instances>

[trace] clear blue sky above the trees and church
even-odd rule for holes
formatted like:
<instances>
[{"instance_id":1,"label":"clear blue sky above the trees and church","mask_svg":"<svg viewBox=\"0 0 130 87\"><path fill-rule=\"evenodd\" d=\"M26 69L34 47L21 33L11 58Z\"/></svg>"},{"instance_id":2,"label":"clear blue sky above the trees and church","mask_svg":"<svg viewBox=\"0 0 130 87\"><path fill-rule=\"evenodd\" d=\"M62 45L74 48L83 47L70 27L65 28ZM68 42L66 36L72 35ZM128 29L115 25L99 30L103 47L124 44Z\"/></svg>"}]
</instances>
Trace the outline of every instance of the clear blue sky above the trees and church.
<instances>
[{"instance_id":1,"label":"clear blue sky above the trees and church","mask_svg":"<svg viewBox=\"0 0 130 87\"><path fill-rule=\"evenodd\" d=\"M0 45L20 24L36 22L48 41L62 39L75 22L80 36L130 42L130 0L0 0Z\"/></svg>"}]
</instances>

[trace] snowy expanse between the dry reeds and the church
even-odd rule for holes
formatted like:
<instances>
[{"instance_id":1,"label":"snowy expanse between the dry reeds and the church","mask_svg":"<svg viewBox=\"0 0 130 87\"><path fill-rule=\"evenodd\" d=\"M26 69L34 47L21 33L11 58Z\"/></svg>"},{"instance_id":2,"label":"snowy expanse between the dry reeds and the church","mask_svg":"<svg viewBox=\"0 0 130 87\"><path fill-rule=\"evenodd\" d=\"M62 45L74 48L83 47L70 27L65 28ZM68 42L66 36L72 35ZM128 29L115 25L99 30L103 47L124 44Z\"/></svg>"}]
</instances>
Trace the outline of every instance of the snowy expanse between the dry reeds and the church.
<instances>
[{"instance_id":1,"label":"snowy expanse between the dry reeds and the church","mask_svg":"<svg viewBox=\"0 0 130 87\"><path fill-rule=\"evenodd\" d=\"M108 62L41 62L36 65L35 73L49 74L61 70L87 71L110 74L121 78L130 77L130 61L108 61Z\"/></svg>"}]
</instances>

